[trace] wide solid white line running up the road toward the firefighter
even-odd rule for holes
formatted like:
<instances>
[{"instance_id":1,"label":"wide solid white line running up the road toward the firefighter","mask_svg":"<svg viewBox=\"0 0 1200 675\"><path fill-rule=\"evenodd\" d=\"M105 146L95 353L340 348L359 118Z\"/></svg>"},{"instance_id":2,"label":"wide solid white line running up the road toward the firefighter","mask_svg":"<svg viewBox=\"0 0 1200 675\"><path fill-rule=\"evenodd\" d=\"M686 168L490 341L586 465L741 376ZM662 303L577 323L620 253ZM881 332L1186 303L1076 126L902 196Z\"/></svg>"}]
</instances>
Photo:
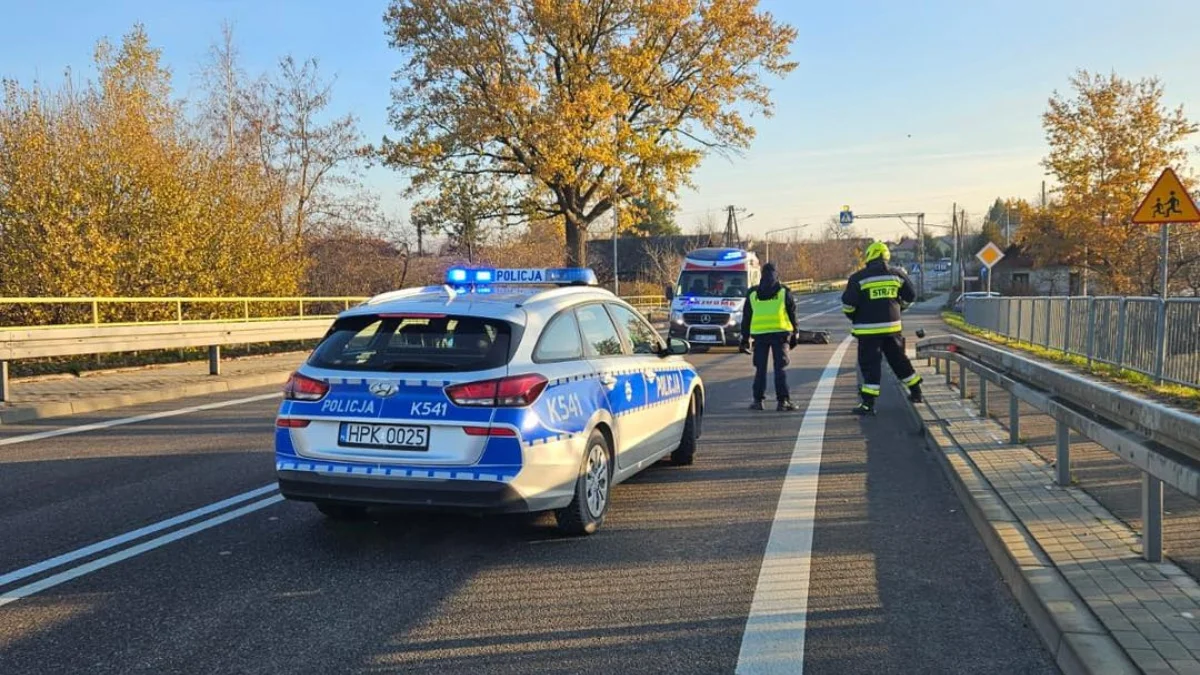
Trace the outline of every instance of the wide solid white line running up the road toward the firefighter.
<instances>
[{"instance_id":1,"label":"wide solid white line running up the road toward the firefighter","mask_svg":"<svg viewBox=\"0 0 1200 675\"><path fill-rule=\"evenodd\" d=\"M750 616L742 635L736 669L740 675L804 673L804 631L808 625L809 569L812 563L821 452L829 400L851 340L842 340L826 364L796 436L750 603Z\"/></svg>"}]
</instances>

